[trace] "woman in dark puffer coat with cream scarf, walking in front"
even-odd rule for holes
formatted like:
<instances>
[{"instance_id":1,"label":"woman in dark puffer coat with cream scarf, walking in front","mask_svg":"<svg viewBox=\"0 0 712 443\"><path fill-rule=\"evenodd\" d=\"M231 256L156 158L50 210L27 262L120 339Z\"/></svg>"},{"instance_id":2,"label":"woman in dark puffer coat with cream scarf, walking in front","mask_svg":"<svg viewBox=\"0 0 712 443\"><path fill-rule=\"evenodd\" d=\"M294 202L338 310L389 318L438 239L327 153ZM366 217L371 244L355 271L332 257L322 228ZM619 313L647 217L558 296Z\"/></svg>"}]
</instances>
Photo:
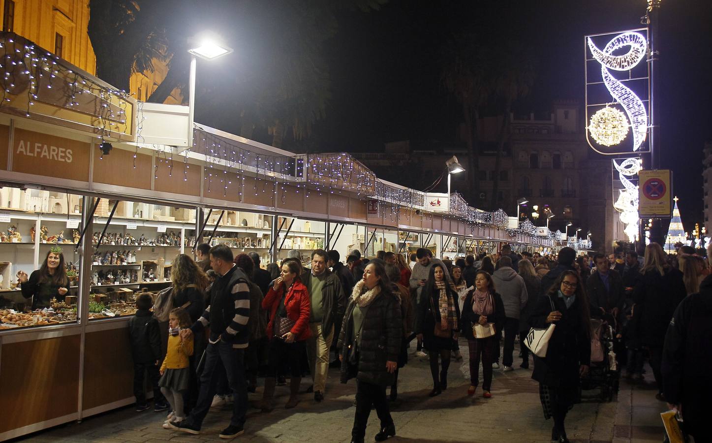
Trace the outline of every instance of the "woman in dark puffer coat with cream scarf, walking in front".
<instances>
[{"instance_id":1,"label":"woman in dark puffer coat with cream scarf, walking in front","mask_svg":"<svg viewBox=\"0 0 712 443\"><path fill-rule=\"evenodd\" d=\"M339 335L341 382L356 377L356 414L352 442L363 442L371 405L381 421L382 442L396 434L386 387L392 385L402 336L401 307L380 263L366 266L356 283Z\"/></svg>"}]
</instances>

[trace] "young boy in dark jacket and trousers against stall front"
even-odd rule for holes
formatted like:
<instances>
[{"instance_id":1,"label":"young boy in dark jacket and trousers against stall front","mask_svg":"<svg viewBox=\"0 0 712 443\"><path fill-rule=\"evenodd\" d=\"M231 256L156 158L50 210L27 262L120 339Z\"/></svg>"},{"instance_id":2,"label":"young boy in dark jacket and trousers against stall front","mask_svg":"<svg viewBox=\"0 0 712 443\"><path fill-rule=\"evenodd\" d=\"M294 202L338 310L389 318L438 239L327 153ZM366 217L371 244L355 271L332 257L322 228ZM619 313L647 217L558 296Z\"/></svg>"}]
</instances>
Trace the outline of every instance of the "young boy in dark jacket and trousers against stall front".
<instances>
[{"instance_id":1,"label":"young boy in dark jacket and trousers against stall front","mask_svg":"<svg viewBox=\"0 0 712 443\"><path fill-rule=\"evenodd\" d=\"M158 329L158 320L153 317L150 308L153 299L147 293L142 293L136 298L136 315L129 320L129 340L131 343L131 356L134 360L134 395L136 396L136 410L145 411L149 408L144 389L144 377L148 378L153 388L153 400L156 411L168 409L166 400L158 386L160 375L158 368L161 356L161 334Z\"/></svg>"}]
</instances>

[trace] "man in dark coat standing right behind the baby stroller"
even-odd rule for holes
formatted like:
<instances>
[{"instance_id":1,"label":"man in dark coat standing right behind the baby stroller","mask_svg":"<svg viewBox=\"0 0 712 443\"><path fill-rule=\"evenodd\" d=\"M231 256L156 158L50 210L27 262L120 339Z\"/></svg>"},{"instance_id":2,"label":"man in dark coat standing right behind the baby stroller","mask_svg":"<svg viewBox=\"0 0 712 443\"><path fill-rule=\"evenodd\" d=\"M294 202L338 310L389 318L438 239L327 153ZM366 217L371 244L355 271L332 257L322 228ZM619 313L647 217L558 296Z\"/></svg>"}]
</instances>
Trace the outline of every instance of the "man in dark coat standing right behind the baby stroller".
<instances>
[{"instance_id":1,"label":"man in dark coat standing right behind the baby stroller","mask_svg":"<svg viewBox=\"0 0 712 443\"><path fill-rule=\"evenodd\" d=\"M596 271L586 281L591 316L611 314L617 317L624 301L622 278L617 271L609 268L608 260L603 254L596 254L593 260L596 263Z\"/></svg>"}]
</instances>

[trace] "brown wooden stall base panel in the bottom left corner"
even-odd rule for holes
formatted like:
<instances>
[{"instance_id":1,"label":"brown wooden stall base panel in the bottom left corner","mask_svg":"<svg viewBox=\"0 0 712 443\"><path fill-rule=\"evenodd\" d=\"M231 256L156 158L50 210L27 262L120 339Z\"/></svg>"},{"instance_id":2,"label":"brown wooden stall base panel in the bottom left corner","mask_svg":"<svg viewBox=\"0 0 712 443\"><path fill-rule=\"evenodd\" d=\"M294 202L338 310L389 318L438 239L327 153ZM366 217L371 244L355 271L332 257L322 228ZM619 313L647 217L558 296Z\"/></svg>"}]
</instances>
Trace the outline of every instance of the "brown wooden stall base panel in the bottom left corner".
<instances>
[{"instance_id":1,"label":"brown wooden stall base panel in the bottom left corner","mask_svg":"<svg viewBox=\"0 0 712 443\"><path fill-rule=\"evenodd\" d=\"M2 345L0 432L77 412L79 340L69 335Z\"/></svg>"}]
</instances>

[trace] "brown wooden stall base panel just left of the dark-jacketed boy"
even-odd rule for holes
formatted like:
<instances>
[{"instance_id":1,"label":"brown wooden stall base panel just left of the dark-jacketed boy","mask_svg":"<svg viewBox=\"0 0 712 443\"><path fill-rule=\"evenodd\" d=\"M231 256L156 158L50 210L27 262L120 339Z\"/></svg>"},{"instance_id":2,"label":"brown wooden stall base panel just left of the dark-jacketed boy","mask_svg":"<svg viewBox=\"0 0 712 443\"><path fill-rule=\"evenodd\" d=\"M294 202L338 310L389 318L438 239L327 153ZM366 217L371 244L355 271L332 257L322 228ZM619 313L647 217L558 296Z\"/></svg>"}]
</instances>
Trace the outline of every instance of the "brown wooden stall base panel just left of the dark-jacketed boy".
<instances>
[{"instance_id":1,"label":"brown wooden stall base panel just left of the dark-jacketed boy","mask_svg":"<svg viewBox=\"0 0 712 443\"><path fill-rule=\"evenodd\" d=\"M83 409L133 397L128 330L100 330L85 337Z\"/></svg>"}]
</instances>

